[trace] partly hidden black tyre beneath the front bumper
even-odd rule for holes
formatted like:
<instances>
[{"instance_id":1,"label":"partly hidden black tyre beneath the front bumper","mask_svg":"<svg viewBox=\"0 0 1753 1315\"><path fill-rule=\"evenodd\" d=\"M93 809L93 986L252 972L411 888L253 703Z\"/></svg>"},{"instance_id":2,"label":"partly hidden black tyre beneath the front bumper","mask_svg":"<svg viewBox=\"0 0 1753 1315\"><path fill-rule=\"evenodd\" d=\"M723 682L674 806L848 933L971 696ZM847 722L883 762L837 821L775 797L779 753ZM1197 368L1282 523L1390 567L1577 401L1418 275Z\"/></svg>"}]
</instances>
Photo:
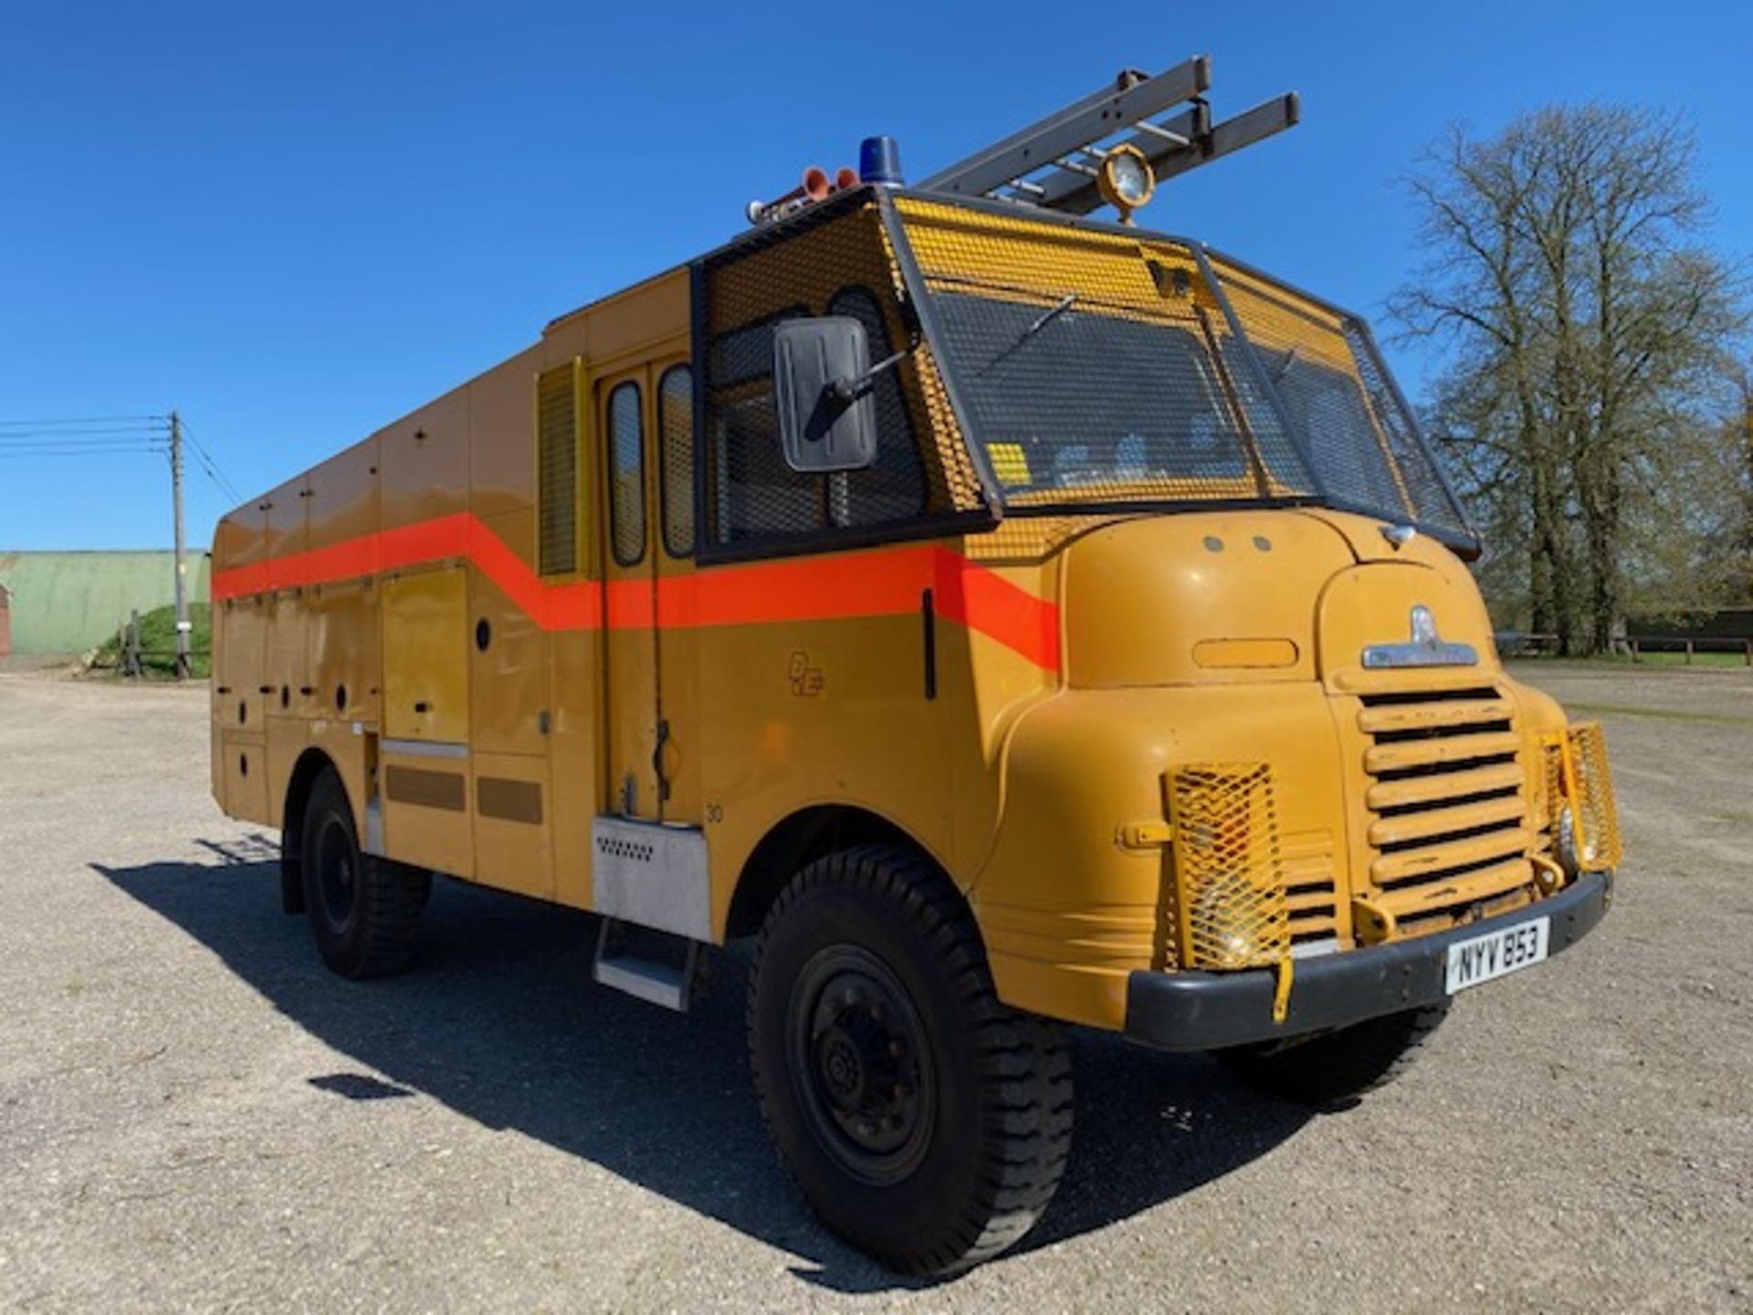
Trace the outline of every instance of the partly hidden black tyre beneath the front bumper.
<instances>
[{"instance_id":1,"label":"partly hidden black tyre beneath the front bumper","mask_svg":"<svg viewBox=\"0 0 1753 1315\"><path fill-rule=\"evenodd\" d=\"M1302 1041L1239 1045L1211 1054L1224 1068L1274 1096L1306 1105L1338 1105L1394 1082L1446 1017L1448 1005L1432 1005Z\"/></svg>"}]
</instances>

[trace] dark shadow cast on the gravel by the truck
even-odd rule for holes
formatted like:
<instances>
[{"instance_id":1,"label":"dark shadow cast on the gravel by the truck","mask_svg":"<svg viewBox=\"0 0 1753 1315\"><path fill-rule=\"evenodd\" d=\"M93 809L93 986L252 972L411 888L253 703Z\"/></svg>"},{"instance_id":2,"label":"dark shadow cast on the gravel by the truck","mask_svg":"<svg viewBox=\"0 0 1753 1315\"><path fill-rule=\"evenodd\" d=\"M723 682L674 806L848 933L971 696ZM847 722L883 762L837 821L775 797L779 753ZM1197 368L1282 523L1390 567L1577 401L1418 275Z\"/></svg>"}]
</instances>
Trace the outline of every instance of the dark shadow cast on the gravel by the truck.
<instances>
[{"instance_id":1,"label":"dark shadow cast on the gravel by the truck","mask_svg":"<svg viewBox=\"0 0 1753 1315\"><path fill-rule=\"evenodd\" d=\"M743 966L715 956L689 1015L591 982L596 917L438 882L421 956L352 984L323 968L303 919L279 917L279 868L202 842L214 863L93 868L174 922L280 1013L368 1073L310 1073L342 1099L442 1101L806 1257L794 1273L843 1292L917 1287L820 1227L761 1127L743 1050ZM266 843L266 842L265 842ZM705 1017L699 1017L705 1015ZM1075 1036L1076 1154L1041 1226L1013 1254L1171 1201L1267 1154L1309 1112L1238 1087L1203 1057Z\"/></svg>"}]
</instances>

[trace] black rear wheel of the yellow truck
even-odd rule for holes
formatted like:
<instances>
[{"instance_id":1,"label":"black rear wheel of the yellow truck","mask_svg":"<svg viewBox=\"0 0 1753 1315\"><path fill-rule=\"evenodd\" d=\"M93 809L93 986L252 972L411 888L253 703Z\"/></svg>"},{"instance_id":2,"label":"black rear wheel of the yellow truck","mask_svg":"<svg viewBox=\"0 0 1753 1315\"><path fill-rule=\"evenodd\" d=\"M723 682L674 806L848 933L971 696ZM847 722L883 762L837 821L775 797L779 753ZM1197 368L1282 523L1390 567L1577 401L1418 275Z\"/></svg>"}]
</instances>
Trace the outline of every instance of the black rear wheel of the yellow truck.
<instances>
[{"instance_id":1,"label":"black rear wheel of the yellow truck","mask_svg":"<svg viewBox=\"0 0 1753 1315\"><path fill-rule=\"evenodd\" d=\"M431 875L359 852L347 791L324 768L305 805L305 913L323 961L342 977L405 968Z\"/></svg>"}]
</instances>

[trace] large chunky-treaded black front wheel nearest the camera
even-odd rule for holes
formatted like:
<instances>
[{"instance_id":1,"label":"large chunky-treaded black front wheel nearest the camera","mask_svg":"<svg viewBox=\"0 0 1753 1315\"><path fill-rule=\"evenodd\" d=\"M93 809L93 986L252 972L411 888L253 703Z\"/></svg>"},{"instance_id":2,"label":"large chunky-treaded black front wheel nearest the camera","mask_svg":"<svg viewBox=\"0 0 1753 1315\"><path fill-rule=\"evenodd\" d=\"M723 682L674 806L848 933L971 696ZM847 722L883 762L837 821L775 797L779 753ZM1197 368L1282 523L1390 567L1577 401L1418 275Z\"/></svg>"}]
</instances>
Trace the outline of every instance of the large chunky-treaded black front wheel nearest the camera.
<instances>
[{"instance_id":1,"label":"large chunky-treaded black front wheel nearest the camera","mask_svg":"<svg viewBox=\"0 0 1753 1315\"><path fill-rule=\"evenodd\" d=\"M892 1269L996 1255L1064 1173L1059 1027L999 1003L968 906L908 850L833 854L785 887L761 929L749 1047L787 1171Z\"/></svg>"}]
</instances>

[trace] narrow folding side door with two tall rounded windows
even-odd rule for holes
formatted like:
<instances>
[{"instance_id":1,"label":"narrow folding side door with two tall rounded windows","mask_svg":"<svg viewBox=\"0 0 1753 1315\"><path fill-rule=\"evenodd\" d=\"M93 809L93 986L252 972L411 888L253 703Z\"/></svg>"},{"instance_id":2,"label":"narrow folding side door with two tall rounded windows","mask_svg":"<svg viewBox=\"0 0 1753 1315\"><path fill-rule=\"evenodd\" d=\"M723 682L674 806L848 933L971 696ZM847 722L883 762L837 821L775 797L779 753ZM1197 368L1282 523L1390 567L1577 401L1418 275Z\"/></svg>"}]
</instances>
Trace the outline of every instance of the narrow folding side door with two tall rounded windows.
<instances>
[{"instance_id":1,"label":"narrow folding side door with two tall rounded windows","mask_svg":"<svg viewBox=\"0 0 1753 1315\"><path fill-rule=\"evenodd\" d=\"M699 821L694 402L682 352L598 382L607 812Z\"/></svg>"}]
</instances>

